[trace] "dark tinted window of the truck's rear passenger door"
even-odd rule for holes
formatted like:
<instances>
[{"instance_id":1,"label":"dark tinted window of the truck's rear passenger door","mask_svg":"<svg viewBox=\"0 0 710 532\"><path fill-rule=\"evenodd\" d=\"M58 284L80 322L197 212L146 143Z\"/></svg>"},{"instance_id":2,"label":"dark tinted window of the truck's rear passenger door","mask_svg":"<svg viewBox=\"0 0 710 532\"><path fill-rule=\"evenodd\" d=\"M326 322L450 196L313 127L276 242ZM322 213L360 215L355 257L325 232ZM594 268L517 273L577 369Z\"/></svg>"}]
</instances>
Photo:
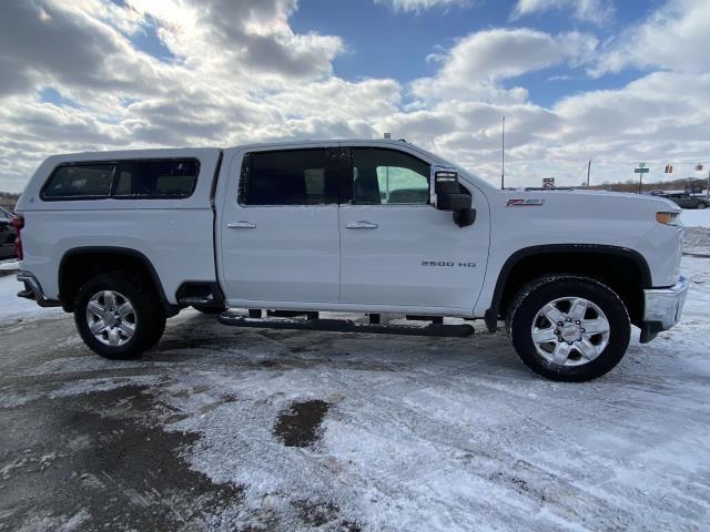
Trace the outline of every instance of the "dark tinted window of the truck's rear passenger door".
<instances>
[{"instance_id":1,"label":"dark tinted window of the truck's rear passenger door","mask_svg":"<svg viewBox=\"0 0 710 532\"><path fill-rule=\"evenodd\" d=\"M252 152L244 156L242 205L324 205L337 203L337 176L327 150Z\"/></svg>"}]
</instances>

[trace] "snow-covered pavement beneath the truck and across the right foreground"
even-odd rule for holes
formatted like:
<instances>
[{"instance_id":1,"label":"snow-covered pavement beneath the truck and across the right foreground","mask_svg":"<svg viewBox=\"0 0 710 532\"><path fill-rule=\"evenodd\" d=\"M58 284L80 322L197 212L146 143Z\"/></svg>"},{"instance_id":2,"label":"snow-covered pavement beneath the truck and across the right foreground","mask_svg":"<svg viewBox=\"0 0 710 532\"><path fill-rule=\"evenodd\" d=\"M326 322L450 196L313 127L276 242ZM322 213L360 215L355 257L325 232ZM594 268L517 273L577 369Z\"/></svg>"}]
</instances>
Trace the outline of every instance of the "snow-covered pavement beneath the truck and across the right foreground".
<instances>
[{"instance_id":1,"label":"snow-covered pavement beneath the truck and across the right foreground","mask_svg":"<svg viewBox=\"0 0 710 532\"><path fill-rule=\"evenodd\" d=\"M534 376L503 332L225 329L191 310L130 362L88 354L65 319L64 344L18 379L78 376L45 400L145 387L173 412L163 430L199 434L191 468L243 490L212 530L703 530L709 266L683 257L683 321L589 383Z\"/></svg>"}]
</instances>

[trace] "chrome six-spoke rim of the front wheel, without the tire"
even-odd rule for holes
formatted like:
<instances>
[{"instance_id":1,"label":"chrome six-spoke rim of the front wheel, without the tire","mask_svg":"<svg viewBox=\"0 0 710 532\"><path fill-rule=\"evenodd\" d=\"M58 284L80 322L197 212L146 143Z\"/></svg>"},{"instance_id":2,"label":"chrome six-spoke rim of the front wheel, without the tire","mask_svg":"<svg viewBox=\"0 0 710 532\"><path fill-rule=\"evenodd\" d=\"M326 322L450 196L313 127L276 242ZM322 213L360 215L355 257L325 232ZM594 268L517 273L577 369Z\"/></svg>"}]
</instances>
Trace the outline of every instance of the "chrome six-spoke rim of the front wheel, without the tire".
<instances>
[{"instance_id":1,"label":"chrome six-spoke rim of the front wheel, without the tire","mask_svg":"<svg viewBox=\"0 0 710 532\"><path fill-rule=\"evenodd\" d=\"M609 320L584 297L560 297L540 308L530 329L537 352L558 366L581 366L609 344Z\"/></svg>"}]
</instances>

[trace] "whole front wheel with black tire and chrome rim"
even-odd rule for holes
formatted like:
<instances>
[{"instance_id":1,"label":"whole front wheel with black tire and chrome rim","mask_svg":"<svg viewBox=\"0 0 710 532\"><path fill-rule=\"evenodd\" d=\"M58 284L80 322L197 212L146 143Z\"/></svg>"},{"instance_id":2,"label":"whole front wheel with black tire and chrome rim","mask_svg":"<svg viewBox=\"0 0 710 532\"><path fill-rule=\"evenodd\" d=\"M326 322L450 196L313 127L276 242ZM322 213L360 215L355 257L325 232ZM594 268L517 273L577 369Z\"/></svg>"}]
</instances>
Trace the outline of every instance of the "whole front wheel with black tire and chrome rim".
<instances>
[{"instance_id":1,"label":"whole front wheel with black tire and chrome rim","mask_svg":"<svg viewBox=\"0 0 710 532\"><path fill-rule=\"evenodd\" d=\"M528 368L567 382L610 371L631 335L619 296L597 280L576 276L544 277L525 286L510 305L507 327Z\"/></svg>"}]
</instances>

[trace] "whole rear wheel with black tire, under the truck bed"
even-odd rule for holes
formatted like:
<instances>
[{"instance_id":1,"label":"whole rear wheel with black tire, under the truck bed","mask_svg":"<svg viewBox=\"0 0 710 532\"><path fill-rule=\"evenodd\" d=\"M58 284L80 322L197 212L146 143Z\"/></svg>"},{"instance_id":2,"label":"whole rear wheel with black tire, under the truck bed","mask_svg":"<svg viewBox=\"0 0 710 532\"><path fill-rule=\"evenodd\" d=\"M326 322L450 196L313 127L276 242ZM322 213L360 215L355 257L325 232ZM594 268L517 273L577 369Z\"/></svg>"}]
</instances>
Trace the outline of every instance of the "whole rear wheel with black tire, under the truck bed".
<instances>
[{"instance_id":1,"label":"whole rear wheel with black tire, under the truck bed","mask_svg":"<svg viewBox=\"0 0 710 532\"><path fill-rule=\"evenodd\" d=\"M165 313L152 286L113 272L89 279L79 289L74 321L94 352L129 359L158 342L165 329Z\"/></svg>"}]
</instances>

